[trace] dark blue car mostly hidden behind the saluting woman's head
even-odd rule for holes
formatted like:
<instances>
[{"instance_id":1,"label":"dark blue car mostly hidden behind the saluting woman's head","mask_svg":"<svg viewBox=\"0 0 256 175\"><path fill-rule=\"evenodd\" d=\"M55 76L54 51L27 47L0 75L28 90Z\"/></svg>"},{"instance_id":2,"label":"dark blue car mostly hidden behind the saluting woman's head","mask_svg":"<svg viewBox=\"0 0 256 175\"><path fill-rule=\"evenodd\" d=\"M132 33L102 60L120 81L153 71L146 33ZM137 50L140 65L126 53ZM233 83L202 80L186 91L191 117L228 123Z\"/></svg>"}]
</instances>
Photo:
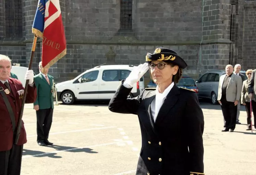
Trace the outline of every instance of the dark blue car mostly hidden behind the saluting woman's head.
<instances>
[{"instance_id":1,"label":"dark blue car mostly hidden behind the saluting woman's head","mask_svg":"<svg viewBox=\"0 0 256 175\"><path fill-rule=\"evenodd\" d=\"M191 89L193 91L195 91L196 93L198 93L198 88L196 86L196 82L194 81L193 78L189 77L189 76L183 76L179 83L176 84L178 87L182 87L182 88L186 88L186 89ZM150 80L150 82L147 85L147 88L154 88L157 85Z\"/></svg>"}]
</instances>

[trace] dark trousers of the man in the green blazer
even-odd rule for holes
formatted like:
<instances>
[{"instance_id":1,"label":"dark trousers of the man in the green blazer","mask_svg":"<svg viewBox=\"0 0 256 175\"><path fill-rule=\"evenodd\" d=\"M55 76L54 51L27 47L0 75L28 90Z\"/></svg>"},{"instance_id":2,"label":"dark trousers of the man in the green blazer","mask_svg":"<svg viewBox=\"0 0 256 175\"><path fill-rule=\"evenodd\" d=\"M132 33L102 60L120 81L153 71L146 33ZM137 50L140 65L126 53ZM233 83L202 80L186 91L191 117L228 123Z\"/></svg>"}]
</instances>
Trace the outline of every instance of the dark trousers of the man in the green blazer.
<instances>
[{"instance_id":1,"label":"dark trousers of the man in the green blazer","mask_svg":"<svg viewBox=\"0 0 256 175\"><path fill-rule=\"evenodd\" d=\"M37 142L45 141L46 139L48 139L52 123L52 114L52 108L36 111Z\"/></svg>"}]
</instances>

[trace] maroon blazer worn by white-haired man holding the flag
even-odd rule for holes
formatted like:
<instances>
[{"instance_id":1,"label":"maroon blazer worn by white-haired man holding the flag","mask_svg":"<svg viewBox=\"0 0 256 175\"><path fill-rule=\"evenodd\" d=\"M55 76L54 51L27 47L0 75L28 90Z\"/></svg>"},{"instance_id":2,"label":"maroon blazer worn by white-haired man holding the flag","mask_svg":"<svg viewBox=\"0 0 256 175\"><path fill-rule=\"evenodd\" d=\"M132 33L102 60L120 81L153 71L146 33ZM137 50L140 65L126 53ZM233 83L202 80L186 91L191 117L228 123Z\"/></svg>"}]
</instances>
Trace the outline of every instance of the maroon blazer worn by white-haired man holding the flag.
<instances>
[{"instance_id":1,"label":"maroon blazer worn by white-haired man holding the flag","mask_svg":"<svg viewBox=\"0 0 256 175\"><path fill-rule=\"evenodd\" d=\"M24 90L22 83L18 79L8 78L9 86L11 88L12 93L6 94L11 106L13 113L15 115L16 120L16 128L19 121L22 99L19 98L19 94L17 91ZM0 87L3 89L7 89L7 87L2 84L0 81ZM34 103L36 100L36 86L34 87L28 86L27 88L27 96L26 103ZM22 121L21 135L17 145L23 145L27 142L26 131L24 128L24 122ZM12 131L12 122L5 106L3 97L0 95L0 151L7 151L12 148L13 145L13 131Z\"/></svg>"}]
</instances>

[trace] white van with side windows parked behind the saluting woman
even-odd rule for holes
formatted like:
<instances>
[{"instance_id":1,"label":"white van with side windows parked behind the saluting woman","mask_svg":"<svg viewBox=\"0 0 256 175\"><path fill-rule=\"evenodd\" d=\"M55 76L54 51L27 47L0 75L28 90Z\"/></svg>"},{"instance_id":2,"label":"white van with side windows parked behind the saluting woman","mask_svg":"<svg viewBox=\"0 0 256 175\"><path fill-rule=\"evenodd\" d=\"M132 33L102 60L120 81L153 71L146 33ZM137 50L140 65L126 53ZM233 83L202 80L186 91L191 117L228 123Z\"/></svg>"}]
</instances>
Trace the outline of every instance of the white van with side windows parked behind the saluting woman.
<instances>
[{"instance_id":1,"label":"white van with side windows parked behind the saluting woman","mask_svg":"<svg viewBox=\"0 0 256 175\"><path fill-rule=\"evenodd\" d=\"M56 84L58 100L63 104L74 101L110 100L122 79L135 68L133 65L100 65L76 78ZM144 90L144 78L137 82L130 94L136 97Z\"/></svg>"}]
</instances>

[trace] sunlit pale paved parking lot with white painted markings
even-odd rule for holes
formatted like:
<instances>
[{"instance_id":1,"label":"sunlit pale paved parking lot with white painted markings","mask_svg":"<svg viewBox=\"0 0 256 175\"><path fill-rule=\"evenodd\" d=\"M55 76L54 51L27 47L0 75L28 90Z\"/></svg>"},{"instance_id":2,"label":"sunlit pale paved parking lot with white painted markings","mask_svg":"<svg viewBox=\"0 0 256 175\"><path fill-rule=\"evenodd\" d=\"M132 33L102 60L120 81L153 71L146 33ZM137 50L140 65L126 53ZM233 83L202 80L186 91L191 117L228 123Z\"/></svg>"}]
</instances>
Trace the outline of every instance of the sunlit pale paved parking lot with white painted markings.
<instances>
[{"instance_id":1,"label":"sunlit pale paved parking lot with white painted markings","mask_svg":"<svg viewBox=\"0 0 256 175\"><path fill-rule=\"evenodd\" d=\"M219 105L201 103L205 117L204 148L207 175L255 175L256 133L246 129L246 112L233 133L221 132ZM108 110L107 104L82 103L55 106L49 141L36 142L36 115L26 104L22 175L133 175L141 135L137 116ZM190 132L190 131L187 131Z\"/></svg>"}]
</instances>

